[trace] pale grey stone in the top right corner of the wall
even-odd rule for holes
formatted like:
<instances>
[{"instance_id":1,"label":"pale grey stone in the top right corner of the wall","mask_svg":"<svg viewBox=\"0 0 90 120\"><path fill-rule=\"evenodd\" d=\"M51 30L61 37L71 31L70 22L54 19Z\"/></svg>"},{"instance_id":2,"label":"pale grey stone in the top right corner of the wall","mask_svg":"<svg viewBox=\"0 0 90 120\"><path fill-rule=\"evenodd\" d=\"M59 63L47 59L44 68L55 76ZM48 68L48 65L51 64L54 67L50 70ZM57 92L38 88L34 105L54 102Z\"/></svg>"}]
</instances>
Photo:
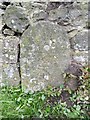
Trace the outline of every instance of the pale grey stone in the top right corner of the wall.
<instances>
[{"instance_id":1,"label":"pale grey stone in the top right corner of the wall","mask_svg":"<svg viewBox=\"0 0 90 120\"><path fill-rule=\"evenodd\" d=\"M74 27L86 26L86 22L88 21L88 6L86 4L78 3L74 8L68 10Z\"/></svg>"}]
</instances>

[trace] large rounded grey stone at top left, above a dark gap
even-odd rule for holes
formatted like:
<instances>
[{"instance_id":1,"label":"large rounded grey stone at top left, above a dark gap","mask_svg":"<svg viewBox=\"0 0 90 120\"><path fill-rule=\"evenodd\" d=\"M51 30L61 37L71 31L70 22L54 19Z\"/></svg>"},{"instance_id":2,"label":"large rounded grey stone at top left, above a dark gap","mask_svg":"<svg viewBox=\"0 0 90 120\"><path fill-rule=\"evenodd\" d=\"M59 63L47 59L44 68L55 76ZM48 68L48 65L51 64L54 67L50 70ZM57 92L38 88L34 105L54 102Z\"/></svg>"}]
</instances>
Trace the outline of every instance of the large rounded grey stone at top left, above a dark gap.
<instances>
[{"instance_id":1,"label":"large rounded grey stone at top left, above a dark gap","mask_svg":"<svg viewBox=\"0 0 90 120\"><path fill-rule=\"evenodd\" d=\"M4 14L4 22L16 32L22 33L29 25L24 9L19 6L9 5Z\"/></svg>"}]
</instances>

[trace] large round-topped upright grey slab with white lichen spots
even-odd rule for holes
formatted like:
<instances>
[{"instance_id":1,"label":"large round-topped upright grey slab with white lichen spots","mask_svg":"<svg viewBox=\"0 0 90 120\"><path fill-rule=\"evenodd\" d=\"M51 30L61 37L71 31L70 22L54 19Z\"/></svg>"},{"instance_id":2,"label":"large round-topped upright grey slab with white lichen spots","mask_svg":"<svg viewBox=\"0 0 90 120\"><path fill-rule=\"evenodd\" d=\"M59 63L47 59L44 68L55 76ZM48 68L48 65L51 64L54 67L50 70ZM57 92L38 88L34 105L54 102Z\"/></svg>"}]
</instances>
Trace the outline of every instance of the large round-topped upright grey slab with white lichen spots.
<instances>
[{"instance_id":1,"label":"large round-topped upright grey slab with white lichen spots","mask_svg":"<svg viewBox=\"0 0 90 120\"><path fill-rule=\"evenodd\" d=\"M69 40L62 27L51 22L30 26L21 39L21 74L26 90L63 84L70 61Z\"/></svg>"}]
</instances>

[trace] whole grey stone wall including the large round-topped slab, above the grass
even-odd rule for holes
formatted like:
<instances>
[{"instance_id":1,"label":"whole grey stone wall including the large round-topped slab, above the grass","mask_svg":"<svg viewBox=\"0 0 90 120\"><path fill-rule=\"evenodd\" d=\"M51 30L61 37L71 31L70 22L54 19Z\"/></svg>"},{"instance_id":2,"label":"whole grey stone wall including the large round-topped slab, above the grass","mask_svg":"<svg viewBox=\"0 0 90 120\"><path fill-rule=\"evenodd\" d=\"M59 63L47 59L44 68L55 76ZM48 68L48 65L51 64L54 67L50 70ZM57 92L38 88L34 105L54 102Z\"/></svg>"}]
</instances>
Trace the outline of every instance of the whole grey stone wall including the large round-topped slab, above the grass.
<instances>
[{"instance_id":1,"label":"whole grey stone wall including the large round-topped slab, above the grass","mask_svg":"<svg viewBox=\"0 0 90 120\"><path fill-rule=\"evenodd\" d=\"M87 2L1 1L0 21L1 86L59 86L70 65L88 64Z\"/></svg>"}]
</instances>

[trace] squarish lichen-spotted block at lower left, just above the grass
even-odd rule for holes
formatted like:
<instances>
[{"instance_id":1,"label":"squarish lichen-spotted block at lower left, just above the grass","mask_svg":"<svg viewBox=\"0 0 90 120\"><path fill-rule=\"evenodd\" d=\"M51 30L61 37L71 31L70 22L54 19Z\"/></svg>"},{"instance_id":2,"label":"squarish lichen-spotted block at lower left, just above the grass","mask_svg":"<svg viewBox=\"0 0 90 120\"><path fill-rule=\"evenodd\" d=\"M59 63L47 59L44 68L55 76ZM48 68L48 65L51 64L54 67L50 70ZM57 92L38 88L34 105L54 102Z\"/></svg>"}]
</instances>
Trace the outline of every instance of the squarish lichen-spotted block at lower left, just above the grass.
<instances>
[{"instance_id":1,"label":"squarish lichen-spotted block at lower left, just above the grass","mask_svg":"<svg viewBox=\"0 0 90 120\"><path fill-rule=\"evenodd\" d=\"M19 85L20 78L16 64L3 63L2 69L2 84L8 86Z\"/></svg>"}]
</instances>

